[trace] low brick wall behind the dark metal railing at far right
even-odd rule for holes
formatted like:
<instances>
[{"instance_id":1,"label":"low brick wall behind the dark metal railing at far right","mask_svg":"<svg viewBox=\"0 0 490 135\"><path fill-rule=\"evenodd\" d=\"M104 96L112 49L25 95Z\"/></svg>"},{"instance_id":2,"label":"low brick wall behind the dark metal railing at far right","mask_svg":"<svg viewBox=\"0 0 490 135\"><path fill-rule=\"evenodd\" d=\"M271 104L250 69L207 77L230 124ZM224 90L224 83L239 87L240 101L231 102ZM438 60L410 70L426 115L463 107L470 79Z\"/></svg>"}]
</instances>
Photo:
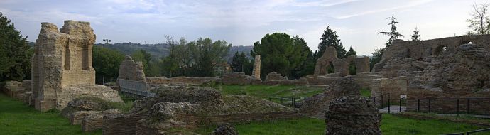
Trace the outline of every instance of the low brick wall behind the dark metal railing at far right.
<instances>
[{"instance_id":1,"label":"low brick wall behind the dark metal railing at far right","mask_svg":"<svg viewBox=\"0 0 490 135\"><path fill-rule=\"evenodd\" d=\"M471 98L468 99L467 98ZM430 99L430 100L429 100ZM426 90L409 88L407 110L410 112L490 114L490 91L464 92L463 90ZM430 105L430 109L429 109ZM469 108L468 108L469 105Z\"/></svg>"}]
</instances>

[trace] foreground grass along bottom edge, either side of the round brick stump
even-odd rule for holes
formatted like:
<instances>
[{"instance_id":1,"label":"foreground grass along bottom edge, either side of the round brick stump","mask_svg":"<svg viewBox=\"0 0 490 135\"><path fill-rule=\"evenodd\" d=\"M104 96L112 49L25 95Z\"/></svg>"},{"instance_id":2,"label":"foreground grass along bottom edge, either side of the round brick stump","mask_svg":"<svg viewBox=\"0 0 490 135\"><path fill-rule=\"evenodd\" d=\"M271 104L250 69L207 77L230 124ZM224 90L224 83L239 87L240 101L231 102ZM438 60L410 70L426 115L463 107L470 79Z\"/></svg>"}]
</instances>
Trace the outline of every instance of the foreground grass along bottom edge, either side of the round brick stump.
<instances>
[{"instance_id":1,"label":"foreground grass along bottom edge, either side of the round brick stump","mask_svg":"<svg viewBox=\"0 0 490 135\"><path fill-rule=\"evenodd\" d=\"M234 124L239 134L325 134L322 119L302 118L290 120L255 121ZM216 126L197 129L199 134L209 134ZM483 127L441 120L419 120L383 114L381 131L385 135L398 134L450 134L483 129ZM484 133L490 134L490 132Z\"/></svg>"}]
</instances>

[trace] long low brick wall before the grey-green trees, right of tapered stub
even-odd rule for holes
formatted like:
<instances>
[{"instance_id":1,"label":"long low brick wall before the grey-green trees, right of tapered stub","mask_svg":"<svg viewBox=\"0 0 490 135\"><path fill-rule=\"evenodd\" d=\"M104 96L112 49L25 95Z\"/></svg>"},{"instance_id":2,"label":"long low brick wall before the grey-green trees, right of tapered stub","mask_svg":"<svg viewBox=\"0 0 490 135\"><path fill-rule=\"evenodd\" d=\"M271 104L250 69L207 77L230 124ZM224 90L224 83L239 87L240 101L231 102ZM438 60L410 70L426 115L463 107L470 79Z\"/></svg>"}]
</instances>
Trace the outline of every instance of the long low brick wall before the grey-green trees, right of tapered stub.
<instances>
[{"instance_id":1,"label":"long low brick wall before the grey-green trees, right of tapered stub","mask_svg":"<svg viewBox=\"0 0 490 135\"><path fill-rule=\"evenodd\" d=\"M217 77L146 77L146 82L151 85L170 85L170 84L188 84L202 85L207 82L221 82Z\"/></svg>"}]
</instances>

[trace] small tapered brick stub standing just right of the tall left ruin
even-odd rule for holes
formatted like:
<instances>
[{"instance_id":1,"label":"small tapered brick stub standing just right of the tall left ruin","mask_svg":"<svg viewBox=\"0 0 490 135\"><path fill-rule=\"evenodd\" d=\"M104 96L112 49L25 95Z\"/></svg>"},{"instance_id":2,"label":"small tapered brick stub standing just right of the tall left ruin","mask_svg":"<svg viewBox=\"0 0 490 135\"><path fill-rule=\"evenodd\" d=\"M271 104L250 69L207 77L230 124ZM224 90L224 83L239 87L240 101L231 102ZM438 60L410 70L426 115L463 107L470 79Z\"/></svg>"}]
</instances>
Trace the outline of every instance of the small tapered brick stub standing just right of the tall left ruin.
<instances>
[{"instance_id":1,"label":"small tapered brick stub standing just right of the tall left ruin","mask_svg":"<svg viewBox=\"0 0 490 135\"><path fill-rule=\"evenodd\" d=\"M119 76L117 79L146 82L143 63L135 62L131 56L126 55L126 58L124 58L119 66Z\"/></svg>"}]
</instances>

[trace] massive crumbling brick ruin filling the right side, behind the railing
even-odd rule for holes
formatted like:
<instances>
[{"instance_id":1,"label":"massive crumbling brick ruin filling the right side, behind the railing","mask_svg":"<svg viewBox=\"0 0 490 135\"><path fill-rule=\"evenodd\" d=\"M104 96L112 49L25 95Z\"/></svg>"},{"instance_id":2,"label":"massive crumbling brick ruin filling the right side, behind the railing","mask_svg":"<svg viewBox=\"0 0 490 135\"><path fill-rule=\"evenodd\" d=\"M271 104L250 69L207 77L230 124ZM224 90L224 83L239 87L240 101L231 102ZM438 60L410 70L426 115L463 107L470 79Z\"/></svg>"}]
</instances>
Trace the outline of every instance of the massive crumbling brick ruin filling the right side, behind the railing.
<instances>
[{"instance_id":1,"label":"massive crumbling brick ruin filling the right side, behind the railing","mask_svg":"<svg viewBox=\"0 0 490 135\"><path fill-rule=\"evenodd\" d=\"M489 114L490 101L463 101L490 97L489 61L490 35L394 41L373 70L386 78L406 76L409 111L450 113L459 107Z\"/></svg>"}]
</instances>

